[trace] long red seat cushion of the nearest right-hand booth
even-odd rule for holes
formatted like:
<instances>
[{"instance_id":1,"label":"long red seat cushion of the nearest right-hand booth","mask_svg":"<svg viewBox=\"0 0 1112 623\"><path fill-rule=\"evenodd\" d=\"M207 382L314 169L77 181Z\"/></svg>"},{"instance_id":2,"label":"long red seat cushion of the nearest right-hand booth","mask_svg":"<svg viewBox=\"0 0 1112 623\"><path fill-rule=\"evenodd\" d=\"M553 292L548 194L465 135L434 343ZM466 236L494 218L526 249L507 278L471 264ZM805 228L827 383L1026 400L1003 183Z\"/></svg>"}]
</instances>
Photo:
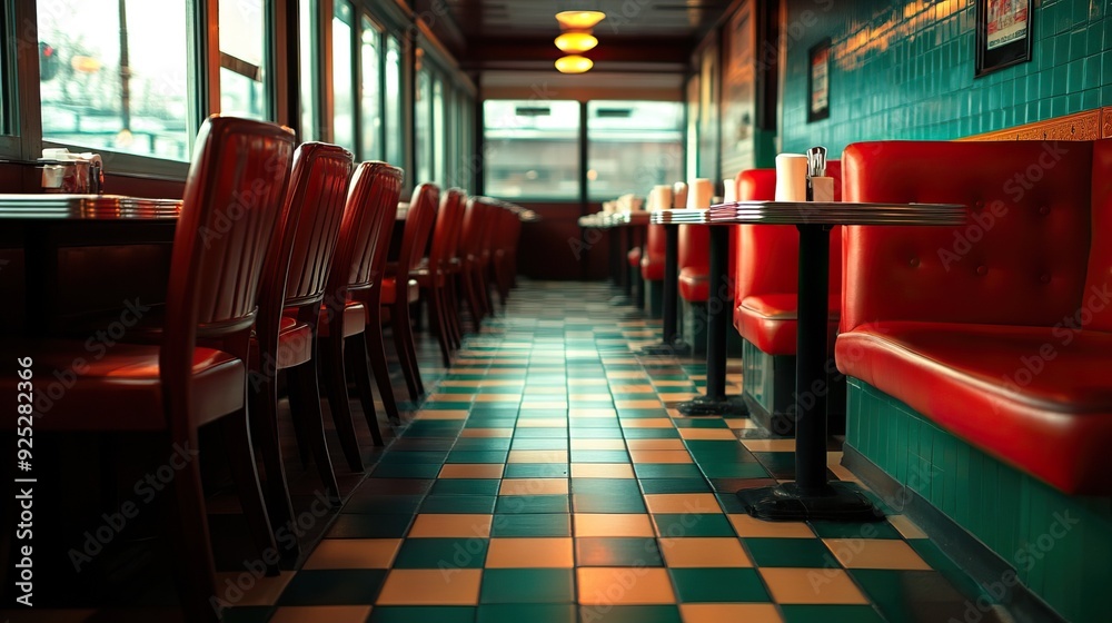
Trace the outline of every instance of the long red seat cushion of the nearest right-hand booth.
<instances>
[{"instance_id":1,"label":"long red seat cushion of the nearest right-hand booth","mask_svg":"<svg viewBox=\"0 0 1112 623\"><path fill-rule=\"evenodd\" d=\"M841 372L1069 493L1112 494L1112 334L893 320L837 338Z\"/></svg>"}]
</instances>

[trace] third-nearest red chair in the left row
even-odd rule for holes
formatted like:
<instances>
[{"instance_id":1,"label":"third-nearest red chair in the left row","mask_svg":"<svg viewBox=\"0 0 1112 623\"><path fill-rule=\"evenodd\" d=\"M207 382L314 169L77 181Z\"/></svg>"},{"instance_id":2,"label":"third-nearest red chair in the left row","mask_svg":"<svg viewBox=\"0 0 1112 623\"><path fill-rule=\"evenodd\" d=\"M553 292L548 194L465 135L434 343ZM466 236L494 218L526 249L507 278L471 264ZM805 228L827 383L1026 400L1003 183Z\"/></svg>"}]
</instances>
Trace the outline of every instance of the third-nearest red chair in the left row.
<instances>
[{"instance_id":1,"label":"third-nearest red chair in the left row","mask_svg":"<svg viewBox=\"0 0 1112 623\"><path fill-rule=\"evenodd\" d=\"M386 162L361 162L356 167L321 307L320 346L326 364L328 404L337 427L346 428L339 434L341 439L349 439L344 442L345 456L353 471L356 467L363 471L363 461L358 447L354 453L350 447L355 431L348 405L345 357L354 368L359 403L375 444L381 445L383 436L370 387L371 370L387 415L394 422L400 421L379 320L386 256L400 192L401 169Z\"/></svg>"}]
</instances>

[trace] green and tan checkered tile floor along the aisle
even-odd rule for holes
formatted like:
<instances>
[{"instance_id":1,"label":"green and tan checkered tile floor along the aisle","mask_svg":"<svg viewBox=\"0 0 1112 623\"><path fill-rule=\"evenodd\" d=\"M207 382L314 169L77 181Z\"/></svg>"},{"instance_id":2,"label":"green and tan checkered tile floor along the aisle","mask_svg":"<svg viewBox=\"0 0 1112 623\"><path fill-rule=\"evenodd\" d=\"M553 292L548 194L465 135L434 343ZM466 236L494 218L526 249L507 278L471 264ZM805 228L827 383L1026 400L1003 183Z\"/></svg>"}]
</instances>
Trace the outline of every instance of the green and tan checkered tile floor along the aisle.
<instances>
[{"instance_id":1,"label":"green and tan checkered tile floor along the aisle","mask_svg":"<svg viewBox=\"0 0 1112 623\"><path fill-rule=\"evenodd\" d=\"M699 392L704 366L634 355L658 323L619 319L629 310L609 296L584 284L516 290L304 567L267 580L249 595L257 605L228 620L962 619L975 585L902 515L745 515L734 492L791 479L794 441L746 418L681 416L673 407ZM739 377L729 382L736 393ZM854 481L840 452L828 457L832 477Z\"/></svg>"}]
</instances>

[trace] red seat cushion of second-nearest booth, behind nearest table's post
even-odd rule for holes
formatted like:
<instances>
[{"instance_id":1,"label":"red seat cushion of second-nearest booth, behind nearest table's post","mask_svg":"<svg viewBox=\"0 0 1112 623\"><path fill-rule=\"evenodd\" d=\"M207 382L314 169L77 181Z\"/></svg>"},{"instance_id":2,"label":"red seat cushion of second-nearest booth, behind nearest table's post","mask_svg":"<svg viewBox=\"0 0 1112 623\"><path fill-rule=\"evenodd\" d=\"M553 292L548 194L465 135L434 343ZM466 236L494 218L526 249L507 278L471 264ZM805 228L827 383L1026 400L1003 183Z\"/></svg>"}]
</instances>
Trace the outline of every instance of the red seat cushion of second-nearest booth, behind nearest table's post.
<instances>
[{"instance_id":1,"label":"red seat cushion of second-nearest booth, behind nearest table's post","mask_svg":"<svg viewBox=\"0 0 1112 623\"><path fill-rule=\"evenodd\" d=\"M838 310L842 307L840 294L830 295L828 352L833 350L837 337ZM798 297L793 294L764 294L747 296L734 310L734 322L738 333L763 353L770 355L795 355Z\"/></svg>"}]
</instances>

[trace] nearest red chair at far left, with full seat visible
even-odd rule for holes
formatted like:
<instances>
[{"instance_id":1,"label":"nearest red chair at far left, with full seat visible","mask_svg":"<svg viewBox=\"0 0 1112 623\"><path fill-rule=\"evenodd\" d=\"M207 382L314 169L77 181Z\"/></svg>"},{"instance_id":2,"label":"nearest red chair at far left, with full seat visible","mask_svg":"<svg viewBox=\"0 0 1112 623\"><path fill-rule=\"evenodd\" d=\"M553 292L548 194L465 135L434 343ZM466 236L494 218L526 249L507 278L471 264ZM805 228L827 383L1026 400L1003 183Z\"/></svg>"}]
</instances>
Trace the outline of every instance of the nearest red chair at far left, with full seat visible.
<instances>
[{"instance_id":1,"label":"nearest red chair at far left, with full seat visible","mask_svg":"<svg viewBox=\"0 0 1112 623\"><path fill-rule=\"evenodd\" d=\"M212 117L201 126L175 231L160 345L117 342L95 357L85 342L4 348L8 360L17 353L31 355L34 378L72 378L49 411L34 414L39 433L146 433L169 452L198 447L198 429L219 423L260 552L277 547L248 433L247 362L264 257L281 212L292 154L292 132L272 123ZM11 358L9 348L14 349ZM75 369L78 359L85 362L80 370ZM9 374L0 377L0 394L14 405L20 379ZM16 418L4 422L10 426ZM219 611L210 600L221 593L199 459L186 462L168 490L162 494L168 541L177 555L186 619L216 622ZM267 572L277 574L277 565Z\"/></svg>"}]
</instances>

